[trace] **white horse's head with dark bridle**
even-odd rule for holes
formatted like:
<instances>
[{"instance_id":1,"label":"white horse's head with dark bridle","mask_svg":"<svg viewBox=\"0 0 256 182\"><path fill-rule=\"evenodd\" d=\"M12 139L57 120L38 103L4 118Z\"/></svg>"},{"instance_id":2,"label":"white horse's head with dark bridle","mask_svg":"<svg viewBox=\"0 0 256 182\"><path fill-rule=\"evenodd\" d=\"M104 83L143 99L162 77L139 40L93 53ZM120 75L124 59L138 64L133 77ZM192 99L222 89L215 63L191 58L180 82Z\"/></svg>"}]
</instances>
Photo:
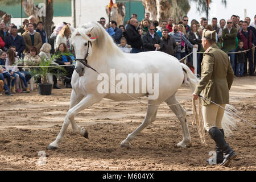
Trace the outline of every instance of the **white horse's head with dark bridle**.
<instances>
[{"instance_id":1,"label":"white horse's head with dark bridle","mask_svg":"<svg viewBox=\"0 0 256 182\"><path fill-rule=\"evenodd\" d=\"M84 64L80 63L79 60L86 61L87 57L90 56L92 53L92 42L96 40L95 38L92 38L91 32L93 30L93 27L90 28L73 28L70 27L72 32L71 37L71 44L73 46L73 49L75 50L76 55L76 72L79 74L79 76L84 76L85 72L85 66Z\"/></svg>"}]
</instances>

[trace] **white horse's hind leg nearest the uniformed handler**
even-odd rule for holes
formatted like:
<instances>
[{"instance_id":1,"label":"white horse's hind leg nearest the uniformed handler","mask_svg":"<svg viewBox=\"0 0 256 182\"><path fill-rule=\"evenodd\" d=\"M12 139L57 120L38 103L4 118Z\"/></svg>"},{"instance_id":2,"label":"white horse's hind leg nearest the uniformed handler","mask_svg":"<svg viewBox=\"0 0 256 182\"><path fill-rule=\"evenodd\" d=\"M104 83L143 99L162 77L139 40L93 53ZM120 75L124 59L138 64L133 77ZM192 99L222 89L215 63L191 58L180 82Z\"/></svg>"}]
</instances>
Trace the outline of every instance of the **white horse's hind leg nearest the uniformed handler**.
<instances>
[{"instance_id":1,"label":"white horse's hind leg nearest the uniformed handler","mask_svg":"<svg viewBox=\"0 0 256 182\"><path fill-rule=\"evenodd\" d=\"M176 94L173 96L169 97L166 100L166 103L168 105L173 105L173 104L178 104L179 102L176 100ZM191 137L189 134L188 130L188 123L187 123L187 112L183 107L179 105L174 105L174 106L169 106L172 111L176 114L177 118L179 119L182 127L182 132L183 132L183 140L177 144L178 147L187 147L191 145Z\"/></svg>"}]
</instances>

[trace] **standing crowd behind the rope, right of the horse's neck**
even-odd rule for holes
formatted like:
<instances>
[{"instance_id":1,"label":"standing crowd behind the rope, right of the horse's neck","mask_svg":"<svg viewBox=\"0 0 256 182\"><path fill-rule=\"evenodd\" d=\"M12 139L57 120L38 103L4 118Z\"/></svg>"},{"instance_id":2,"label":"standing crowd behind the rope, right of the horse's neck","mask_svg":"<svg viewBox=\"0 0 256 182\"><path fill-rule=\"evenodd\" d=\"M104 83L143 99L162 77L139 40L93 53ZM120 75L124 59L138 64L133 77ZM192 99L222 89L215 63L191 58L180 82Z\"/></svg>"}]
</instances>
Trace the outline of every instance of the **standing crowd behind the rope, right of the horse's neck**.
<instances>
[{"instance_id":1,"label":"standing crowd behind the rope, right of the horse's neck","mask_svg":"<svg viewBox=\"0 0 256 182\"><path fill-rule=\"evenodd\" d=\"M184 16L180 22L174 22L172 17L157 22L150 20L150 13L145 13L141 22L138 20L138 15L133 14L127 24L119 25L118 28L113 20L110 22L110 27L105 18L101 18L98 23L106 28L117 46L126 53L163 51L191 66L193 60L189 53L192 52L193 47L197 48L196 69L199 76L205 51L201 44L203 30L205 28L215 30L216 44L228 53L234 75L237 77L255 76L256 15L253 21L249 17L240 20L240 16L232 15L230 19L220 19L219 22L217 18L212 18L211 23L208 24L208 20L204 17L200 19L200 22L192 19L189 23L188 16ZM119 44L121 39L122 45Z\"/></svg>"}]
</instances>

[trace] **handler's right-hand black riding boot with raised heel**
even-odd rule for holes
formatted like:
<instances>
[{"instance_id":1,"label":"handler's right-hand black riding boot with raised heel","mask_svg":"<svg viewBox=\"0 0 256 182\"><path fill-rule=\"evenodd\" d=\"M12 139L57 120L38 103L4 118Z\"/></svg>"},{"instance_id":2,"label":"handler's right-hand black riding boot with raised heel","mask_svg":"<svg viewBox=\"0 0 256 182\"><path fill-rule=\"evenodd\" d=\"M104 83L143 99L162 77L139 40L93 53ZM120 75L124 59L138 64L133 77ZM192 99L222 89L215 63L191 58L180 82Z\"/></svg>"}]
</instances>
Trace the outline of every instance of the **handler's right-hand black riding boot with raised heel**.
<instances>
[{"instance_id":1,"label":"handler's right-hand black riding boot with raised heel","mask_svg":"<svg viewBox=\"0 0 256 182\"><path fill-rule=\"evenodd\" d=\"M236 158L236 153L229 147L228 143L226 143L223 133L217 127L212 127L208 133L224 154L224 160L220 166L229 166L230 161Z\"/></svg>"}]
</instances>

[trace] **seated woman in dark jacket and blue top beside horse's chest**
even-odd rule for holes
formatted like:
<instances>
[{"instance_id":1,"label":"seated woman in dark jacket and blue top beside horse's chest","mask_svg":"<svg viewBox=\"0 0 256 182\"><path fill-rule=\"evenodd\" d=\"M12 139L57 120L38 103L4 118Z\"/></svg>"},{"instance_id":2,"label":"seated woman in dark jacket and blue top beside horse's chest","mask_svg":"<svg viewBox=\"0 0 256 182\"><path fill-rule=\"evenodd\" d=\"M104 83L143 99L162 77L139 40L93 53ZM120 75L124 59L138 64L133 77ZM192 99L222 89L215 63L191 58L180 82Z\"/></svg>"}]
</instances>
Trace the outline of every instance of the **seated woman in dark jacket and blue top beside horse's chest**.
<instances>
[{"instance_id":1,"label":"seated woman in dark jacket and blue top beside horse's chest","mask_svg":"<svg viewBox=\"0 0 256 182\"><path fill-rule=\"evenodd\" d=\"M59 65L72 65L73 60L75 60L75 57L73 57L71 55L71 53L68 52L68 48L67 48L66 44L64 44L64 43L61 43L59 45L59 47L56 49L56 54L60 55L55 61ZM72 77L72 74L73 74L73 71L75 70L75 68L72 66L64 67L64 68L67 71L67 77L65 77L65 80L64 80L64 82L66 84L66 88L72 88L71 77Z\"/></svg>"}]
</instances>

